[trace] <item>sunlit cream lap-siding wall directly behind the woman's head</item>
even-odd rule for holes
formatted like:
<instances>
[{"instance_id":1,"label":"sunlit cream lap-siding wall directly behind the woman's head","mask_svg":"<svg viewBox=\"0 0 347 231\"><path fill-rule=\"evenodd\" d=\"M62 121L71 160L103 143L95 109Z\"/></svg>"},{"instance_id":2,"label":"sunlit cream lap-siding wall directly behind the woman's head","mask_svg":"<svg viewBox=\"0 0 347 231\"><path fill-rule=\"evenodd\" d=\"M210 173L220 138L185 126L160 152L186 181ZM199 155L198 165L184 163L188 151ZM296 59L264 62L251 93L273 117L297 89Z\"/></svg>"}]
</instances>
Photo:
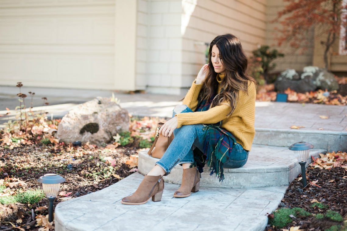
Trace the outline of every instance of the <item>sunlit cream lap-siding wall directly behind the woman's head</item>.
<instances>
[{"instance_id":1,"label":"sunlit cream lap-siding wall directly behind the woman's head","mask_svg":"<svg viewBox=\"0 0 347 231\"><path fill-rule=\"evenodd\" d=\"M231 33L240 38L247 55L265 43L267 0L183 0L182 87L190 87L205 64L205 45L217 35ZM185 25L183 23L183 25Z\"/></svg>"}]
</instances>

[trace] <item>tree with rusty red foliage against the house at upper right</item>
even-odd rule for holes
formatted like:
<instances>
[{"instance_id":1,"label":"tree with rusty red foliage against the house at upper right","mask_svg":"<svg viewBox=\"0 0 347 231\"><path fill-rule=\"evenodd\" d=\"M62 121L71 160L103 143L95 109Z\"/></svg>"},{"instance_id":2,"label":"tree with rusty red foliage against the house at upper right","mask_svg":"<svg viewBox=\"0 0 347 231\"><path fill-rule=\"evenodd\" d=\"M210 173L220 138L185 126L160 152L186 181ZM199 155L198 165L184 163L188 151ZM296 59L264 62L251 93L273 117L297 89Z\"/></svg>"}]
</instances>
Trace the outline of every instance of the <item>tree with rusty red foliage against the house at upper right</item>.
<instances>
[{"instance_id":1,"label":"tree with rusty red foliage against the house at upper right","mask_svg":"<svg viewBox=\"0 0 347 231\"><path fill-rule=\"evenodd\" d=\"M291 47L305 50L310 39L309 32L314 27L321 35L326 35L321 44L325 45L324 63L325 69L328 69L329 49L338 38L340 27L347 26L343 0L283 1L288 2L288 5L272 21L282 25L281 29L275 28L280 32L280 36L276 37L278 45L287 42Z\"/></svg>"}]
</instances>

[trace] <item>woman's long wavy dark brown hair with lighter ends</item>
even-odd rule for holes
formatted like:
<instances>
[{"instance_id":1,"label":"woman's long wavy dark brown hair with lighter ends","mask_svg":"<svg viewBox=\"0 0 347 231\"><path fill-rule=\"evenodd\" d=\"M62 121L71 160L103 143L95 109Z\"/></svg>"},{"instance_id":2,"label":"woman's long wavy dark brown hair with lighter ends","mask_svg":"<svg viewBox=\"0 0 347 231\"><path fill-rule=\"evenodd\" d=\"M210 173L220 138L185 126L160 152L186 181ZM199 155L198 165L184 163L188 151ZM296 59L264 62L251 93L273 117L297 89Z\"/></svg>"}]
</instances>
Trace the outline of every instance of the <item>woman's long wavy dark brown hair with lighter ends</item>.
<instances>
[{"instance_id":1,"label":"woman's long wavy dark brown hair with lighter ends","mask_svg":"<svg viewBox=\"0 0 347 231\"><path fill-rule=\"evenodd\" d=\"M212 47L214 45L219 49L220 60L226 68L225 76L221 81L222 91L220 94L219 92L215 92L218 87L218 73L214 71L211 61ZM236 108L239 91L245 91L248 95L248 80L254 82L256 85L256 81L247 74L247 65L247 55L241 46L240 40L236 36L224 34L215 37L210 44L209 73L199 93L199 99L209 100L216 94L210 107L220 105L226 101L231 107L228 116L231 115Z\"/></svg>"}]
</instances>

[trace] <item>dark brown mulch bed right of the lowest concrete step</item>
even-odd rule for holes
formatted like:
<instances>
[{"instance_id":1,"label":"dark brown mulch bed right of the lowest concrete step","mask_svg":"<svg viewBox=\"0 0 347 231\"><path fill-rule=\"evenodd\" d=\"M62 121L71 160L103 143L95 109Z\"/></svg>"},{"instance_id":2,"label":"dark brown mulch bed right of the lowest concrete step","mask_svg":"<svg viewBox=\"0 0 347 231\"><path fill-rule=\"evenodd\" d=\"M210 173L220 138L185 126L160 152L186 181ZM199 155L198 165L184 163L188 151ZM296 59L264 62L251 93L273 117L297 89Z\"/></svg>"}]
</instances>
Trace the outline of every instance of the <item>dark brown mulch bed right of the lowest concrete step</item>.
<instances>
[{"instance_id":1,"label":"dark brown mulch bed right of the lowest concrete step","mask_svg":"<svg viewBox=\"0 0 347 231\"><path fill-rule=\"evenodd\" d=\"M294 208L300 207L312 214L325 214L328 210L338 212L343 217L347 216L347 178L342 178L347 175L344 168L336 167L332 169L319 169L307 168L307 183L308 185L303 188L302 181L295 179L287 189L285 197L280 203L279 208ZM299 175L301 177L301 175ZM310 181L318 180L315 186L310 184ZM333 181L332 181L333 180ZM332 182L330 182L332 181ZM313 199L316 199L325 208L312 207ZM271 218L269 218L271 219ZM300 226L300 229L306 231L324 231L329 229L332 225L343 225L344 222L336 222L329 219L315 219L310 217L296 217L293 221L285 227ZM268 225L266 231L277 231Z\"/></svg>"}]
</instances>

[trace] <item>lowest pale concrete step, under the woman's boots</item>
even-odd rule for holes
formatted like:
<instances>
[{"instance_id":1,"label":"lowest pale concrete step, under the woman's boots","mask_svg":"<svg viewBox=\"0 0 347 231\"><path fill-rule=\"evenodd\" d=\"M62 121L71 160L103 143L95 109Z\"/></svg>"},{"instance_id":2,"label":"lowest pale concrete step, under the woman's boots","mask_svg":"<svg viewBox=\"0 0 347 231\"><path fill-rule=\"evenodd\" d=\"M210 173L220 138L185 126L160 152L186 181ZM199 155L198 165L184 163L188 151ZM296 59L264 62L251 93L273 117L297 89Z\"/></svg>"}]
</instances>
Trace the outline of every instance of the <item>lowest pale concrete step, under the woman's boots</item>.
<instances>
[{"instance_id":1,"label":"lowest pale concrete step, under the woman's boots","mask_svg":"<svg viewBox=\"0 0 347 231\"><path fill-rule=\"evenodd\" d=\"M100 191L61 202L56 231L263 231L287 187L201 187L185 198L172 197L179 185L164 183L160 202L124 205L143 176L134 173Z\"/></svg>"}]
</instances>

